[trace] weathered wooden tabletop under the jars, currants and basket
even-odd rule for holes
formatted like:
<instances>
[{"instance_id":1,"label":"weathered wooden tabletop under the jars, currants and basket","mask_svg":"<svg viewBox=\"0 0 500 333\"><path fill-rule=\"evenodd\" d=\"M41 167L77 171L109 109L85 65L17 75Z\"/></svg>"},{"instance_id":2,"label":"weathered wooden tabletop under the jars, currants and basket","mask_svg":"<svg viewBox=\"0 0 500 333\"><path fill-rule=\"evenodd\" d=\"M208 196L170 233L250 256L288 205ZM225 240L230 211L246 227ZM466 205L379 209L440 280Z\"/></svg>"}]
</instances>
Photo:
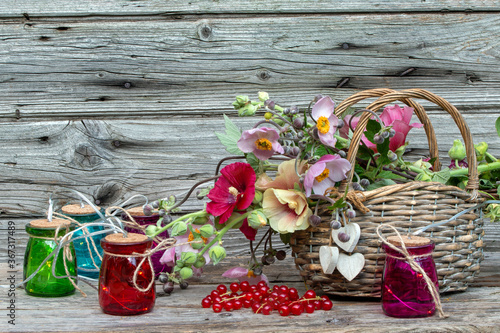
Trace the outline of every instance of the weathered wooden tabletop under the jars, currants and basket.
<instances>
[{"instance_id":1,"label":"weathered wooden tabletop under the jars, currants and basket","mask_svg":"<svg viewBox=\"0 0 500 333\"><path fill-rule=\"evenodd\" d=\"M201 300L217 284L229 284L221 277L229 267L242 258L231 258L219 266L206 269L202 279L192 280L186 290L176 287L166 296L160 284L156 285L158 297L151 313L139 316L111 316L104 314L98 303L97 292L80 284L87 297L79 293L62 298L28 296L17 289L15 297L15 326L8 325L5 315L10 298L2 292L1 331L9 332L498 332L500 323L500 285L496 273L499 257L489 255L482 266L482 273L466 292L444 294L442 303L449 316L437 315L421 319L398 319L385 316L379 299L332 298L330 311L281 317L256 315L250 309L214 313L201 307ZM2 264L3 265L3 264ZM6 267L0 267L1 281L6 281ZM267 271L271 285L286 284L300 294L306 290L300 281L292 260L280 262ZM16 274L18 281L22 272ZM489 286L489 287L488 287Z\"/></svg>"}]
</instances>

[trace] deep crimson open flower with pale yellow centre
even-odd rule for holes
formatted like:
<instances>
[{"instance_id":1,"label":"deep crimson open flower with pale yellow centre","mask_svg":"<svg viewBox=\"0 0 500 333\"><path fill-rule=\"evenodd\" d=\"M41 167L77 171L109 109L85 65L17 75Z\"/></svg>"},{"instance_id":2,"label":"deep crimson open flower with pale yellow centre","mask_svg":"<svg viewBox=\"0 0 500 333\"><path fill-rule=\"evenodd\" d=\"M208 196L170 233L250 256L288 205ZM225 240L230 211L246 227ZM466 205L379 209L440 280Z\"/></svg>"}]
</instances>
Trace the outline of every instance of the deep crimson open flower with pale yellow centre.
<instances>
[{"instance_id":1,"label":"deep crimson open flower with pale yellow centre","mask_svg":"<svg viewBox=\"0 0 500 333\"><path fill-rule=\"evenodd\" d=\"M231 163L221 171L221 176L208 193L212 201L207 203L207 212L220 216L219 223L225 223L235 208L247 209L255 196L255 171L250 164Z\"/></svg>"}]
</instances>

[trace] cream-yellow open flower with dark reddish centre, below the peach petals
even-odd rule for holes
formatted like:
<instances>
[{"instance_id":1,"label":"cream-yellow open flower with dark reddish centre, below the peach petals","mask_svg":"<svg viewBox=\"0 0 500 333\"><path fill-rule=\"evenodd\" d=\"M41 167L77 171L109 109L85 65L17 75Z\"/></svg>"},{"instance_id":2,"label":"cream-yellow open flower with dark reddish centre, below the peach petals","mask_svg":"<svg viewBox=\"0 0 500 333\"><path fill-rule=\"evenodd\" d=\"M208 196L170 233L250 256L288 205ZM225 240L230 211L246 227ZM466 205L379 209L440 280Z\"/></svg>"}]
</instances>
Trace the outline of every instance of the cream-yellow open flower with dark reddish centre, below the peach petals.
<instances>
[{"instance_id":1,"label":"cream-yellow open flower with dark reddish centre, below the peach petals","mask_svg":"<svg viewBox=\"0 0 500 333\"><path fill-rule=\"evenodd\" d=\"M307 229L312 215L306 196L296 190L267 189L262 208L271 228L282 234Z\"/></svg>"}]
</instances>

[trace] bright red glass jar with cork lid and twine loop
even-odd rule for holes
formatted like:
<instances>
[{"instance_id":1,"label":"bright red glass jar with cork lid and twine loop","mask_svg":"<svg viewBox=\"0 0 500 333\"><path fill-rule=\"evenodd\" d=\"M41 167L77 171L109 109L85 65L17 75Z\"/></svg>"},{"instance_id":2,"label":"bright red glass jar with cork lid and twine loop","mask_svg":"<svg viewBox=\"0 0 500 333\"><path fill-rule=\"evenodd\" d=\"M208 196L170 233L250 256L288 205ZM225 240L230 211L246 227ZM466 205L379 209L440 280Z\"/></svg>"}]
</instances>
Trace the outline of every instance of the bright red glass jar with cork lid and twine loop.
<instances>
[{"instance_id":1,"label":"bright red glass jar with cork lid and twine loop","mask_svg":"<svg viewBox=\"0 0 500 333\"><path fill-rule=\"evenodd\" d=\"M120 316L150 312L155 304L154 276L149 260L144 260L137 272L137 286L134 274L141 263L141 256L151 249L152 240L145 235L129 233L111 234L101 240L104 250L99 274L99 305L104 313ZM135 255L134 255L135 253Z\"/></svg>"}]
</instances>

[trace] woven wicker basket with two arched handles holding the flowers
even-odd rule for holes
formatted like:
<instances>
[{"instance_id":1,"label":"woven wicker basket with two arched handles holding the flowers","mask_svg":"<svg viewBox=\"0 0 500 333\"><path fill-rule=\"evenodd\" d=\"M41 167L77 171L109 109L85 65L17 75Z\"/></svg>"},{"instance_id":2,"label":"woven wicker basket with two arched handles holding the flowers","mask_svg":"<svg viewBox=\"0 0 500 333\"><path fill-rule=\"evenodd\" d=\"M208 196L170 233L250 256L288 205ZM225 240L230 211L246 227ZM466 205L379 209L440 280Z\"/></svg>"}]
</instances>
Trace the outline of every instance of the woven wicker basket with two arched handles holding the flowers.
<instances>
[{"instance_id":1,"label":"woven wicker basket with two arched handles holding the flowers","mask_svg":"<svg viewBox=\"0 0 500 333\"><path fill-rule=\"evenodd\" d=\"M327 294L341 296L379 297L381 274L385 254L381 249L375 229L390 223L403 234L432 223L447 220L455 214L475 206L478 198L477 161L471 134L467 124L457 109L443 98L421 89L396 92L389 89L373 89L357 93L337 107L337 116L360 100L379 97L367 109L378 111L394 101L401 101L415 109L415 114L424 125L431 157L435 157L434 170L440 169L436 137L432 125L422 106L412 98L425 99L447 111L459 127L467 150L469 163L469 183L467 191L441 183L412 181L405 184L385 186L372 191L355 193L363 201L369 212L356 212L356 222L361 228L361 237L353 252L365 257L365 266L352 281L347 281L340 273L324 274L319 263L319 248L330 245L331 212L325 205L321 213L322 222L318 227L295 232L291 239L295 264L304 281L314 289L322 289ZM351 141L347 159L354 165L359 142L369 113L363 113ZM352 180L353 170L348 179ZM421 236L431 238L435 244L433 257L439 276L440 292L466 290L474 276L479 273L483 259L484 231L482 212L471 211L443 226L431 227ZM340 250L342 251L342 250Z\"/></svg>"}]
</instances>

